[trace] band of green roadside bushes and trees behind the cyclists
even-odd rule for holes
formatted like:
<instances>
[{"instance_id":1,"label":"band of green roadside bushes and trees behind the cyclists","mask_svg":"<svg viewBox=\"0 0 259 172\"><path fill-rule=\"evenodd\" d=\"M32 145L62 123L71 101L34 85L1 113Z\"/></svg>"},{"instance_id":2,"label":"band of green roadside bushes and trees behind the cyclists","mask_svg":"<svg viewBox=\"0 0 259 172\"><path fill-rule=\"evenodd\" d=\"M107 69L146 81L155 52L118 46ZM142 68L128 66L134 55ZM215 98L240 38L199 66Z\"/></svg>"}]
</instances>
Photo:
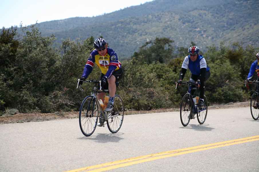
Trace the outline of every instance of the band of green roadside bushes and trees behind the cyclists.
<instances>
[{"instance_id":1,"label":"band of green roadside bushes and trees behind the cyclists","mask_svg":"<svg viewBox=\"0 0 259 172\"><path fill-rule=\"evenodd\" d=\"M91 84L83 84L84 92L76 89L76 85L94 38L64 40L57 49L52 48L54 36L42 36L35 26L22 29L24 35L20 36L13 28L0 34L0 116L9 114L9 110L10 113L78 111L84 97L92 92ZM174 47L173 43L169 38L157 37L122 61L124 76L116 94L123 98L125 109L179 107L187 88L175 90L175 82L190 45ZM244 80L258 51L253 46L239 43L225 46L221 42L220 48L209 46L207 52L200 52L211 70L205 83L209 104L249 99L254 87L247 90ZM94 65L88 79L96 80L99 76L100 70ZM188 70L184 80L189 76Z\"/></svg>"}]
</instances>

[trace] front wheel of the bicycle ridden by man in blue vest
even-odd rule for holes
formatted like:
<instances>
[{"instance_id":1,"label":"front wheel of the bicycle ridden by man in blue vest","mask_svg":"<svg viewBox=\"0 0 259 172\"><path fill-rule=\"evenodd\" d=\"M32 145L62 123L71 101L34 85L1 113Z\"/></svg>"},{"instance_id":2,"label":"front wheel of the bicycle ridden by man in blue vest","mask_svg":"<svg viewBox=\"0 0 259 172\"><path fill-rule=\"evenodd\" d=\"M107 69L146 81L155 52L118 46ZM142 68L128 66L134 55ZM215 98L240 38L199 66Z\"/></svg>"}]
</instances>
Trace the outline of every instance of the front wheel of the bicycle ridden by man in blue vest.
<instances>
[{"instance_id":1,"label":"front wheel of the bicycle ridden by man in blue vest","mask_svg":"<svg viewBox=\"0 0 259 172\"><path fill-rule=\"evenodd\" d=\"M189 94L183 96L181 107L180 107L180 118L183 126L187 126L190 122L191 117L191 100Z\"/></svg>"}]
</instances>

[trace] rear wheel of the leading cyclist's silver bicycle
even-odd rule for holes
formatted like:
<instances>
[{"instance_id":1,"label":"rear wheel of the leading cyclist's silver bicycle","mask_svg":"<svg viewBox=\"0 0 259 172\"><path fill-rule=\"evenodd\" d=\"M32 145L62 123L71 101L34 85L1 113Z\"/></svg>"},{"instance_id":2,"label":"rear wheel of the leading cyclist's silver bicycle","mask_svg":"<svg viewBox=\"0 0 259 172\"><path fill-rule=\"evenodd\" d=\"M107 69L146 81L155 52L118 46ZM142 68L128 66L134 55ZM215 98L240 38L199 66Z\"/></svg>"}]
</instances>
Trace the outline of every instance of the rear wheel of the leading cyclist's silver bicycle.
<instances>
[{"instance_id":1,"label":"rear wheel of the leading cyclist's silver bicycle","mask_svg":"<svg viewBox=\"0 0 259 172\"><path fill-rule=\"evenodd\" d=\"M123 102L120 96L115 95L113 105L112 112L108 114L107 126L110 132L116 133L119 131L124 117Z\"/></svg>"}]
</instances>

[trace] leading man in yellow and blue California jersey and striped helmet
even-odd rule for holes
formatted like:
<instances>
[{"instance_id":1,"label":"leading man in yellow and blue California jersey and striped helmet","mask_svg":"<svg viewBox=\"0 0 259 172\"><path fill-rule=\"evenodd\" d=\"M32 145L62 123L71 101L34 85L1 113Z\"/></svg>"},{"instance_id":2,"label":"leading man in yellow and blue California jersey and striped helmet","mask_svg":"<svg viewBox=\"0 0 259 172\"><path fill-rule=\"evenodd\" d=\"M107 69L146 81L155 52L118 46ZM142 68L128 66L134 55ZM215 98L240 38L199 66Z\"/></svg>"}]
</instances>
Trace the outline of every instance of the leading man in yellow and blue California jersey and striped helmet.
<instances>
[{"instance_id":1,"label":"leading man in yellow and blue California jersey and striped helmet","mask_svg":"<svg viewBox=\"0 0 259 172\"><path fill-rule=\"evenodd\" d=\"M113 109L114 96L116 91L116 84L122 78L123 70L121 64L118 60L118 56L114 50L107 47L106 41L102 38L98 38L94 41L94 50L90 53L88 61L84 66L84 72L80 80L86 80L88 75L92 72L94 63L101 70L100 79L102 89L109 89L110 100L107 105L106 111L110 112ZM79 81L81 85L83 81ZM100 85L98 85L100 89ZM98 93L98 100L104 101L105 93Z\"/></svg>"}]
</instances>

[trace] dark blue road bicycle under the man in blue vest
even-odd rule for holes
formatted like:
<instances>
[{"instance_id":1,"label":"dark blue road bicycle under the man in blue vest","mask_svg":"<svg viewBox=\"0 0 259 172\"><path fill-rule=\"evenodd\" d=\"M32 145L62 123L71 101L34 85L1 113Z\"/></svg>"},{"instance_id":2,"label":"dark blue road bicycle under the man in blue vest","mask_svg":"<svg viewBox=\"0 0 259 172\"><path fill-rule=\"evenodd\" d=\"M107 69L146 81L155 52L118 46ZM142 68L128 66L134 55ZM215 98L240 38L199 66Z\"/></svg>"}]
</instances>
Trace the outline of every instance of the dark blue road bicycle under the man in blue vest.
<instances>
[{"instance_id":1,"label":"dark blue road bicycle under the man in blue vest","mask_svg":"<svg viewBox=\"0 0 259 172\"><path fill-rule=\"evenodd\" d=\"M197 105L194 102L196 97L193 96L193 94L191 93L191 90L197 90L196 85L191 82L177 81L176 83L176 89L178 88L179 84L188 85L188 90L186 94L183 96L180 106L181 123L183 124L183 126L187 126L190 120L194 119L195 114L197 114L197 120L199 124L203 124L206 120L208 111L208 102L206 96L204 95L204 105L201 107L197 107ZM197 101L197 104L198 102L199 100Z\"/></svg>"}]
</instances>

